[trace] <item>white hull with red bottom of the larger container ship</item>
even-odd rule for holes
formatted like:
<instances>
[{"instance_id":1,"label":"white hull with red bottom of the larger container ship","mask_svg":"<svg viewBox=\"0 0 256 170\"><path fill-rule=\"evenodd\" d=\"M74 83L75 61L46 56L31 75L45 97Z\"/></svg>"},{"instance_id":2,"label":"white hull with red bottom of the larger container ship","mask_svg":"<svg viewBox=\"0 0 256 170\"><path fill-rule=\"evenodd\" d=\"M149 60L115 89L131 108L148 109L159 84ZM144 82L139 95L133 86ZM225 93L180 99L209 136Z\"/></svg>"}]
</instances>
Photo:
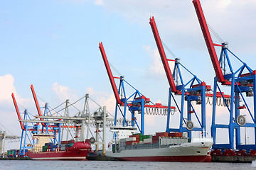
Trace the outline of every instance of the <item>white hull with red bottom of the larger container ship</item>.
<instances>
[{"instance_id":1,"label":"white hull with red bottom of the larger container ship","mask_svg":"<svg viewBox=\"0 0 256 170\"><path fill-rule=\"evenodd\" d=\"M124 149L119 152L106 152L107 157L122 161L156 161L156 162L210 162L208 154L213 145L212 139L196 139L193 142L169 147Z\"/></svg>"}]
</instances>

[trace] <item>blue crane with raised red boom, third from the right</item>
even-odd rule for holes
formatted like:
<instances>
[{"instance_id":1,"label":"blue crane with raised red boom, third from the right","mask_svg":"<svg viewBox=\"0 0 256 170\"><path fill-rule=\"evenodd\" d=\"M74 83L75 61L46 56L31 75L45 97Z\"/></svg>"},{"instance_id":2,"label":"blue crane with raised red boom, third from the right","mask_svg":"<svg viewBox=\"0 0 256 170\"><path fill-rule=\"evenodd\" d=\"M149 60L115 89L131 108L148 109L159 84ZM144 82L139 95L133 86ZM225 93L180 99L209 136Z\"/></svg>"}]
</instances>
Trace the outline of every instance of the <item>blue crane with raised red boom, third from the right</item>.
<instances>
[{"instance_id":1,"label":"blue crane with raised red boom, third from the right","mask_svg":"<svg viewBox=\"0 0 256 170\"><path fill-rule=\"evenodd\" d=\"M112 90L114 92L114 97L117 101L116 108L115 108L115 114L114 114L114 125L117 125L117 112L119 111L122 114L123 123L122 125L128 125L127 123L127 110L131 113L132 117L132 127L137 125L137 128L139 129L139 132L144 134L144 109L145 108L154 108L155 111L164 112L167 108L170 108L171 110L175 110L175 107L168 107L168 106L162 106L161 103L153 103L150 101L149 98L146 98L142 93L139 92L139 90L135 89L134 86L129 84L127 81L124 80L124 77L113 77L113 74L110 69L110 64L107 60L107 55L105 54L104 47L102 45L102 42L99 44L100 52L102 55L102 59L104 61L107 75L110 79L110 84L112 86ZM117 86L114 83L114 79L119 79L119 89L117 90ZM131 87L134 90L134 93L128 96L126 94L124 84L127 84L129 87ZM122 98L120 98L122 96ZM124 109L122 111L121 106L124 106ZM137 119L135 117L135 111L141 114L141 120L140 125L137 122Z\"/></svg>"}]
</instances>

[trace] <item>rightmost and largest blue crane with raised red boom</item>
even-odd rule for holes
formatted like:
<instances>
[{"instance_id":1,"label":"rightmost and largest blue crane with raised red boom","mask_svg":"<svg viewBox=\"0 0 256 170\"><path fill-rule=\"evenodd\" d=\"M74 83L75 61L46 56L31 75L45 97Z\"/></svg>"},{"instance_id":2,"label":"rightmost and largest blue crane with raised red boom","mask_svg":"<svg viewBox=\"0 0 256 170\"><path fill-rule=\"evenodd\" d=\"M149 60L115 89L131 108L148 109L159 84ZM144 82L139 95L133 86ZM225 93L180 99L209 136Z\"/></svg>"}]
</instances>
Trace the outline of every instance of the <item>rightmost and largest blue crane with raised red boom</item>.
<instances>
[{"instance_id":1,"label":"rightmost and largest blue crane with raised red boom","mask_svg":"<svg viewBox=\"0 0 256 170\"><path fill-rule=\"evenodd\" d=\"M216 77L214 78L214 87L213 87L213 118L211 125L211 135L213 137L213 149L233 149L234 148L234 133L235 133L235 147L236 149L256 149L256 145L241 145L240 139L240 127L254 128L254 139L256 144L256 71L252 70L247 66L245 62L242 62L240 58L238 58L233 52L228 49L228 43L223 42L221 45L213 43L213 40L210 36L210 31L208 30L208 25L206 23L206 18L203 14L203 9L201 7L199 0L193 0L193 5L196 9L196 14L198 17L198 21L201 26L201 30L203 33L203 38L206 41L206 47L208 49L210 60L212 61L213 68L215 70ZM215 52L215 47L221 47L220 57L218 59L217 54ZM234 70L232 64L230 62L230 56L235 57L239 62L242 63L242 66L238 70ZM228 63L228 68L226 68L226 64ZM224 72L223 72L223 70ZM226 73L225 71L228 69L230 73ZM247 70L247 73L243 73ZM228 108L229 112L229 124L216 124L216 106L215 99L216 94L221 92L220 83L223 86L230 86L230 107L227 105L225 98L223 101L225 102L225 106ZM245 96L243 95L245 94ZM252 110L249 107L249 104L245 100L246 97L253 97L253 108ZM240 104L240 100L244 102L244 106ZM247 114L252 120L252 123L246 121L245 116L240 114L240 110L245 109ZM216 144L216 129L217 128L227 128L229 135L229 143L227 144Z\"/></svg>"}]
</instances>

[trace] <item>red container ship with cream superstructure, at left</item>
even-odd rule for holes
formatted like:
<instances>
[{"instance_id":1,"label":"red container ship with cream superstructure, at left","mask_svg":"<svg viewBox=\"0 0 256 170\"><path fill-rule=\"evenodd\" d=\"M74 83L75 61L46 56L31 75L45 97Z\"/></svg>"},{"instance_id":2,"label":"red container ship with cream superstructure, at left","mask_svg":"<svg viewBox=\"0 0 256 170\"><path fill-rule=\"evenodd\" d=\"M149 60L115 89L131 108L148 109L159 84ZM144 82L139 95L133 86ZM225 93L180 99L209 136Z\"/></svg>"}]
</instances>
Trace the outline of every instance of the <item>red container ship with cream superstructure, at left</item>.
<instances>
[{"instance_id":1,"label":"red container ship with cream superstructure, at left","mask_svg":"<svg viewBox=\"0 0 256 170\"><path fill-rule=\"evenodd\" d=\"M49 143L53 135L33 135L38 139L33 149L28 151L32 160L78 160L86 161L87 153L92 147L89 142L62 141L58 145Z\"/></svg>"}]
</instances>

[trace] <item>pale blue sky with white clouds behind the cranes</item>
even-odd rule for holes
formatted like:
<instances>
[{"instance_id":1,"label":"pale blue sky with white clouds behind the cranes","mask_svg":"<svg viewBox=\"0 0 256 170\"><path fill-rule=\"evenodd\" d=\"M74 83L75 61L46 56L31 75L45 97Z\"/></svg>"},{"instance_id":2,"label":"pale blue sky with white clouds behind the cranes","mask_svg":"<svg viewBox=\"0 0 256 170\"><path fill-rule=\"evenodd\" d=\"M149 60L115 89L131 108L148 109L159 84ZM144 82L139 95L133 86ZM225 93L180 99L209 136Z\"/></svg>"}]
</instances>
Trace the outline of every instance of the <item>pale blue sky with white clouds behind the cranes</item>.
<instances>
[{"instance_id":1,"label":"pale blue sky with white clouds behind the cranes","mask_svg":"<svg viewBox=\"0 0 256 170\"><path fill-rule=\"evenodd\" d=\"M256 2L205 0L201 5L207 22L228 42L229 49L255 69ZM169 84L149 25L150 16L155 18L161 40L181 63L213 86L215 73L191 0L1 1L0 128L21 135L11 93L20 112L27 108L37 114L31 84L41 106L47 102L55 107L66 99L74 102L90 94L114 113L114 95L99 42L105 47L114 76L123 75L151 101L166 105ZM214 37L213 41L219 43ZM173 59L168 52L166 55ZM240 66L238 61L232 62L233 67ZM219 122L228 118L225 108L217 110ZM211 114L212 108L207 106L208 131ZM165 129L166 117L146 115L146 133Z\"/></svg>"}]
</instances>

